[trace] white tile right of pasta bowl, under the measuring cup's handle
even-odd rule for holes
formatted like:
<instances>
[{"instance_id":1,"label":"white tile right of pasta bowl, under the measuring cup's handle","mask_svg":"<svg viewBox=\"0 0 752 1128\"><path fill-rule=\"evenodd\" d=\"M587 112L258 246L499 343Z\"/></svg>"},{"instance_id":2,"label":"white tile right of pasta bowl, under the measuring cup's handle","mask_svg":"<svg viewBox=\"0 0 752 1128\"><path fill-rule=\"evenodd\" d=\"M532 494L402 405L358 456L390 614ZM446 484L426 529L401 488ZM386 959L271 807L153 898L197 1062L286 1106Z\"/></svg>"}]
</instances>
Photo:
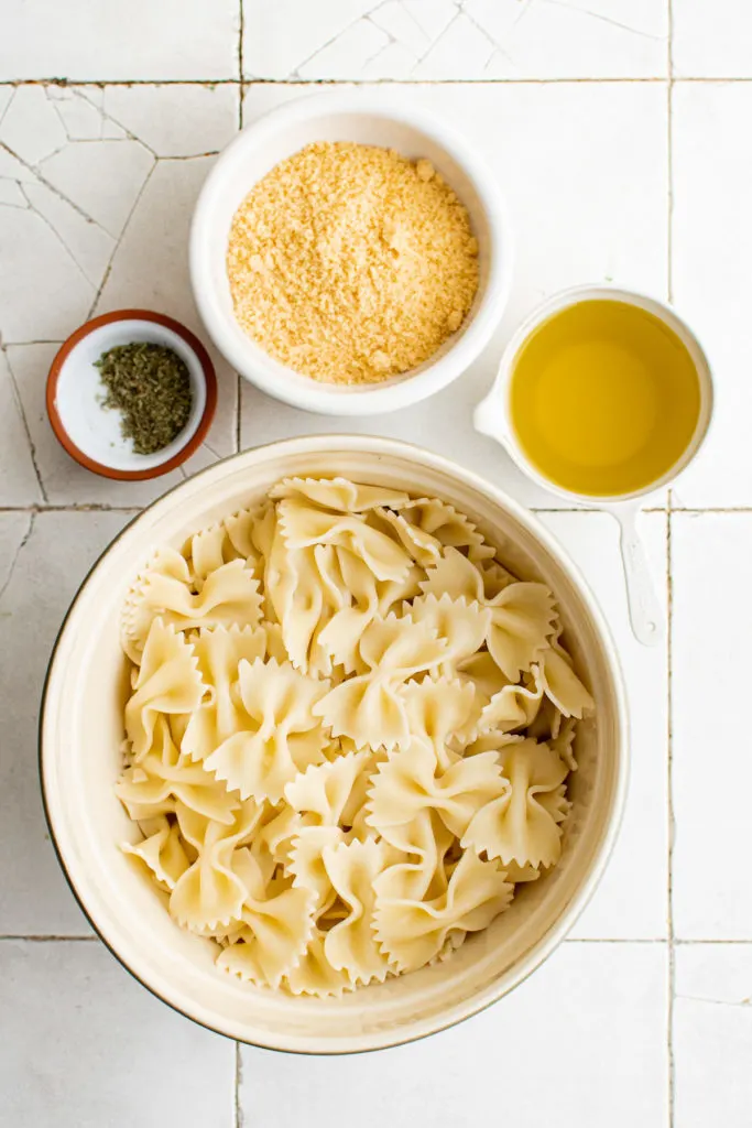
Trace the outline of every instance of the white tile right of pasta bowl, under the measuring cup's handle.
<instances>
[{"instance_id":1,"label":"white tile right of pasta bowl, under the measuring cup's handle","mask_svg":"<svg viewBox=\"0 0 752 1128\"><path fill-rule=\"evenodd\" d=\"M611 863L574 936L651 940L667 934L666 647L646 647L631 633L619 557L619 528L605 513L546 513L607 616L621 659L629 702L630 781L621 835ZM666 515L646 513L644 537L665 610Z\"/></svg>"}]
</instances>

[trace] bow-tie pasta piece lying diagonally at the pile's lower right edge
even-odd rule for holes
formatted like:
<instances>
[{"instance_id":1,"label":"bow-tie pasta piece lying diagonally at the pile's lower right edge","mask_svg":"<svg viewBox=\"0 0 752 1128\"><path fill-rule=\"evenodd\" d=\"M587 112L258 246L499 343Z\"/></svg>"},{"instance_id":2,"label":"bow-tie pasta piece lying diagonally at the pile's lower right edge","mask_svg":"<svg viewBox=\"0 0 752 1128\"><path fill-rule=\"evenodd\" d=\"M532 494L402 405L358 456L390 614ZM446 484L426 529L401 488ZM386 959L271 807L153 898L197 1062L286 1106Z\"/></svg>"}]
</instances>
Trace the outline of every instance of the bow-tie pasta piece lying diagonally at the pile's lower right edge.
<instances>
[{"instance_id":1,"label":"bow-tie pasta piece lying diagonally at the pile's lower right edge","mask_svg":"<svg viewBox=\"0 0 752 1128\"><path fill-rule=\"evenodd\" d=\"M495 862L466 851L444 893L430 900L406 896L398 866L375 879L377 941L397 969L413 971L435 959L450 937L487 928L508 907L514 887Z\"/></svg>"}]
</instances>

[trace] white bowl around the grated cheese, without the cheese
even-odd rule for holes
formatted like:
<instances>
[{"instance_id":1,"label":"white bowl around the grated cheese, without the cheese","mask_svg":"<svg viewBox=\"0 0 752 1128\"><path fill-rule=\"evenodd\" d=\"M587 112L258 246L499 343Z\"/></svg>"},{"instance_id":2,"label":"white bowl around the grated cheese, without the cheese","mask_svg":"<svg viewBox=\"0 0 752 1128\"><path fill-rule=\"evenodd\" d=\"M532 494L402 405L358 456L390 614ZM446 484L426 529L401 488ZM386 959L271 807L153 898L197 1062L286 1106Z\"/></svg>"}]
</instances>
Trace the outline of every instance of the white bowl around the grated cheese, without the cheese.
<instances>
[{"instance_id":1,"label":"white bowl around the grated cheese, without the cheese","mask_svg":"<svg viewBox=\"0 0 752 1128\"><path fill-rule=\"evenodd\" d=\"M230 223L266 173L312 141L356 141L426 157L468 209L479 244L480 281L462 327L424 364L379 385L320 384L274 360L236 320L227 276ZM328 415L375 415L432 396L488 343L506 305L512 252L506 210L483 161L442 122L386 91L330 90L299 98L242 130L204 184L191 231L191 280L198 311L230 364L263 391Z\"/></svg>"}]
</instances>

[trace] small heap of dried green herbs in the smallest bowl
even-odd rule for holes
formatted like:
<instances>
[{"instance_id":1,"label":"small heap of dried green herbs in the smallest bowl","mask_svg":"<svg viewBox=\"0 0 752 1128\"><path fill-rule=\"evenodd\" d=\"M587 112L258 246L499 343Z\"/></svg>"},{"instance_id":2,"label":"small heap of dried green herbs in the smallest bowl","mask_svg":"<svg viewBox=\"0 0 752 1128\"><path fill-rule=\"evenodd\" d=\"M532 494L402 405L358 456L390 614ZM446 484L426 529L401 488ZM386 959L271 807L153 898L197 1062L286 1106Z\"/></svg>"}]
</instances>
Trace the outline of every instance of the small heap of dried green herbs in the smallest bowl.
<instances>
[{"instance_id":1,"label":"small heap of dried green herbs in the smallest bowl","mask_svg":"<svg viewBox=\"0 0 752 1128\"><path fill-rule=\"evenodd\" d=\"M191 377L184 361L145 341L116 345L96 367L107 389L103 407L116 408L124 439L136 455L153 455L176 438L191 415Z\"/></svg>"}]
</instances>

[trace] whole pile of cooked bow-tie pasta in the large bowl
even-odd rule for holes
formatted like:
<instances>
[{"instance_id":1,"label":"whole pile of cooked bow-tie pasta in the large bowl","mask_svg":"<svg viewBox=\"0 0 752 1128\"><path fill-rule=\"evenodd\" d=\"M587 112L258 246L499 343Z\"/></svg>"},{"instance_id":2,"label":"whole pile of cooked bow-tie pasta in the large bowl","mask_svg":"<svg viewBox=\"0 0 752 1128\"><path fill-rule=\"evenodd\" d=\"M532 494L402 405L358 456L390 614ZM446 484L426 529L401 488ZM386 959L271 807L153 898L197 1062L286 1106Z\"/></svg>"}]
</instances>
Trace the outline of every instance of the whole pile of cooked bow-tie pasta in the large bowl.
<instances>
[{"instance_id":1,"label":"whole pile of cooked bow-tie pasta in the large bowl","mask_svg":"<svg viewBox=\"0 0 752 1128\"><path fill-rule=\"evenodd\" d=\"M593 700L559 633L452 506L285 479L129 596L123 849L253 984L443 959L560 855Z\"/></svg>"}]
</instances>

